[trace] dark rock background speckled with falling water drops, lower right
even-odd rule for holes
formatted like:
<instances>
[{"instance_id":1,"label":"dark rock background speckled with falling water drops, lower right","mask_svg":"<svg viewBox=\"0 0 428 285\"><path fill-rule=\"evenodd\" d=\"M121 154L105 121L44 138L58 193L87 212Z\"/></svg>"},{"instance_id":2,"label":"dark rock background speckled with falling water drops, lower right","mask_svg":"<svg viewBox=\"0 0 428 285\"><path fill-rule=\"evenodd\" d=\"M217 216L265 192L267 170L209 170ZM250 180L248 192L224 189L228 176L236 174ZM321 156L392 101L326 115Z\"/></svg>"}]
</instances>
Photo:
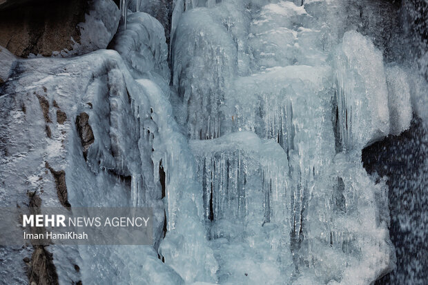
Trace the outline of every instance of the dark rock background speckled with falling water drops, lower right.
<instances>
[{"instance_id":1,"label":"dark rock background speckled with falling water drops, lower right","mask_svg":"<svg viewBox=\"0 0 428 285\"><path fill-rule=\"evenodd\" d=\"M388 177L389 235L397 257L397 268L376 285L427 284L427 150L428 132L420 119L413 119L401 135L390 135L362 150L367 173Z\"/></svg>"}]
</instances>

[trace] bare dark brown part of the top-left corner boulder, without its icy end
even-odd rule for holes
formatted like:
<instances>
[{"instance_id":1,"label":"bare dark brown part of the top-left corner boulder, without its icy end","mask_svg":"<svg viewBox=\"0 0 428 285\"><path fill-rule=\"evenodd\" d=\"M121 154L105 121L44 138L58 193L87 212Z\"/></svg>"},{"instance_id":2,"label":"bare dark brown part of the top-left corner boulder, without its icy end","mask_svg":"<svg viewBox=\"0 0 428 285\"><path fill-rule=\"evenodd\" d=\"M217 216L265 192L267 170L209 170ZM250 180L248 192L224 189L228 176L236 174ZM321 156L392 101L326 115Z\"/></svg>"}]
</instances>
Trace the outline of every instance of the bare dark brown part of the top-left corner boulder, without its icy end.
<instances>
[{"instance_id":1,"label":"bare dark brown part of the top-left corner boulder, without its icy end","mask_svg":"<svg viewBox=\"0 0 428 285\"><path fill-rule=\"evenodd\" d=\"M0 45L19 57L51 56L54 51L72 50L72 39L80 42L77 24L85 21L88 3L29 1L10 8L0 12Z\"/></svg>"}]
</instances>

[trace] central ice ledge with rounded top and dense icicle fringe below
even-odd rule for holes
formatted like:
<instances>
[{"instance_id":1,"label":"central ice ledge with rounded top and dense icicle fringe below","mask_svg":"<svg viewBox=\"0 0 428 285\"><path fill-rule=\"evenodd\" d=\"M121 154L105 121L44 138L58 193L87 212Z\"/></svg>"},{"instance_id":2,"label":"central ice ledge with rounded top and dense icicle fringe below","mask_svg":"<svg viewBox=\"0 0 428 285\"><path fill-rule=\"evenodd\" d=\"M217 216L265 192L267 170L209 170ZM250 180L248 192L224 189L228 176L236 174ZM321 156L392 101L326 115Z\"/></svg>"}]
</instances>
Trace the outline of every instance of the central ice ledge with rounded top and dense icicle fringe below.
<instances>
[{"instance_id":1,"label":"central ice ledge with rounded top and dense icicle fringe below","mask_svg":"<svg viewBox=\"0 0 428 285\"><path fill-rule=\"evenodd\" d=\"M191 141L220 284L281 284L291 272L289 166L253 132Z\"/></svg>"}]
</instances>

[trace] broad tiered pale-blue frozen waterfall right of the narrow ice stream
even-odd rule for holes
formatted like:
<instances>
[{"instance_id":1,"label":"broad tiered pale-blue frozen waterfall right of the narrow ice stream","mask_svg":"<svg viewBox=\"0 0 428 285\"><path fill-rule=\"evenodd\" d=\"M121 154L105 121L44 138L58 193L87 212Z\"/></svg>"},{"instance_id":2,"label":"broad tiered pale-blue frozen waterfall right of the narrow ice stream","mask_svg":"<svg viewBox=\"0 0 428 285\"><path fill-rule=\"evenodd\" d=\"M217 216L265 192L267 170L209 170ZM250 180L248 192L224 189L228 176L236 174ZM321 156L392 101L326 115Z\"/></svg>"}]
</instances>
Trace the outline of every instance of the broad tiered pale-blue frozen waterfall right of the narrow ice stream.
<instances>
[{"instance_id":1,"label":"broad tiered pale-blue frozen waterfall right of the narrow ice stream","mask_svg":"<svg viewBox=\"0 0 428 285\"><path fill-rule=\"evenodd\" d=\"M360 155L408 128L410 90L396 90L400 71L384 66L369 39L340 32L344 19L329 21L338 1L301 4L186 6L175 30L173 81L182 101L175 112L188 136L202 140L191 148L220 283L257 283L246 271L267 274L256 258L270 260L266 242L281 255L269 268L282 284L369 284L393 268L387 186L367 175ZM405 107L400 115L397 104ZM284 151L261 158L257 137L243 131ZM271 171L275 161L285 171ZM270 198L272 189L281 199ZM271 227L278 237L254 242ZM248 263L233 261L233 246L249 248Z\"/></svg>"}]
</instances>

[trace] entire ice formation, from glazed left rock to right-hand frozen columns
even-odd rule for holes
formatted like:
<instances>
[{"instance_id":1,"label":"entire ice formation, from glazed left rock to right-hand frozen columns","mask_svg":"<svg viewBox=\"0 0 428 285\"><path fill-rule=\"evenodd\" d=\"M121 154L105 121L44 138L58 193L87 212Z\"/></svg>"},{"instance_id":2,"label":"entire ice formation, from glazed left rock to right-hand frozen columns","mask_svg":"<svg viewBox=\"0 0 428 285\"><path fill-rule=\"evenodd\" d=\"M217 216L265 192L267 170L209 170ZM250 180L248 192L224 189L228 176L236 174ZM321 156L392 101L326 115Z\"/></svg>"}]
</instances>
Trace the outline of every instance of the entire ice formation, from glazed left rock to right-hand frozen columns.
<instances>
[{"instance_id":1,"label":"entire ice formation, from glazed left rock to right-hand frozen columns","mask_svg":"<svg viewBox=\"0 0 428 285\"><path fill-rule=\"evenodd\" d=\"M30 185L45 206L154 210L154 246L49 246L59 283L371 284L390 271L388 187L361 152L425 119L425 81L347 30L338 0L172 2L169 47L162 23L120 1L117 52L6 70L3 206L28 204ZM21 268L31 250L0 256Z\"/></svg>"}]
</instances>

